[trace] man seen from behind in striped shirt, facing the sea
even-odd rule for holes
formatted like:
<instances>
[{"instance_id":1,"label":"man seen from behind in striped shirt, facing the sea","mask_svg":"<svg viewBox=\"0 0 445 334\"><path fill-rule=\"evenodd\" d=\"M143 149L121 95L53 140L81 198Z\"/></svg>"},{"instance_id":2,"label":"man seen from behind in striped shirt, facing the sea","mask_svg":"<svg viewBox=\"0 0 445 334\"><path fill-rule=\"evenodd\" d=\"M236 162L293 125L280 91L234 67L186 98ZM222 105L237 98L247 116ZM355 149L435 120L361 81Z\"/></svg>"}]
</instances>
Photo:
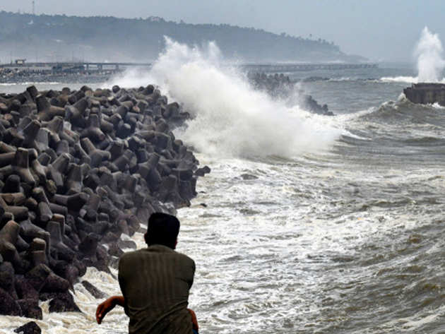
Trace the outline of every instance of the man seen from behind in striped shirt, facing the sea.
<instances>
[{"instance_id":1,"label":"man seen from behind in striped shirt, facing the sea","mask_svg":"<svg viewBox=\"0 0 445 334\"><path fill-rule=\"evenodd\" d=\"M121 256L122 296L110 297L97 306L97 323L120 305L130 318L130 334L198 333L196 316L187 309L195 263L174 251L178 234L176 217L165 213L150 215L144 235L148 248Z\"/></svg>"}]
</instances>

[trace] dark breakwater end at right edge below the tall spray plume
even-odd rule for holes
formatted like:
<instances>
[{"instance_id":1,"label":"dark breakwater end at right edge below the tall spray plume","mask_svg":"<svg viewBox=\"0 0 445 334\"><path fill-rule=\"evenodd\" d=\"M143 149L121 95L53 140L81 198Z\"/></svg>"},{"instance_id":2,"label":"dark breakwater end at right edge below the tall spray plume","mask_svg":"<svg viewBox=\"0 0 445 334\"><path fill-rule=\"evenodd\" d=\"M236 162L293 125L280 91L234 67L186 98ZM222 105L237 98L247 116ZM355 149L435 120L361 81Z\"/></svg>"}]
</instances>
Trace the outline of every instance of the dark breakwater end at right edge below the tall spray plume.
<instances>
[{"instance_id":1,"label":"dark breakwater end at right edge below the tall spray plume","mask_svg":"<svg viewBox=\"0 0 445 334\"><path fill-rule=\"evenodd\" d=\"M422 105L439 103L439 105L445 107L444 83L413 83L411 87L403 90L403 94L413 103Z\"/></svg>"}]
</instances>

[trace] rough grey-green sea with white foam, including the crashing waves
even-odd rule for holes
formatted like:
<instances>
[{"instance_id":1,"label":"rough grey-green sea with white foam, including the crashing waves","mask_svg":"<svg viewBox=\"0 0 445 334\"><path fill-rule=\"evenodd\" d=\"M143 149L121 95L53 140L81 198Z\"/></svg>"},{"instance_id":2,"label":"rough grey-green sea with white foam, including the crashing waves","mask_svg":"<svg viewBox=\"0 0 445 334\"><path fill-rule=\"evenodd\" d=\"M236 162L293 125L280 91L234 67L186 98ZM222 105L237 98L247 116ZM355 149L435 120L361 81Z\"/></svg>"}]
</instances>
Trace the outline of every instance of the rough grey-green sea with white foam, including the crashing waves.
<instances>
[{"instance_id":1,"label":"rough grey-green sea with white foam, including the crashing waves","mask_svg":"<svg viewBox=\"0 0 445 334\"><path fill-rule=\"evenodd\" d=\"M155 83L192 115L174 133L211 172L177 211L177 251L196 262L200 333L445 333L445 108L405 98L415 64L284 73L328 117L253 90L222 58L170 41L150 71L90 84ZM83 280L119 294L111 271ZM43 333L128 333L119 306L97 325L101 301L73 295L81 313L42 302ZM0 333L29 320L1 316Z\"/></svg>"}]
</instances>

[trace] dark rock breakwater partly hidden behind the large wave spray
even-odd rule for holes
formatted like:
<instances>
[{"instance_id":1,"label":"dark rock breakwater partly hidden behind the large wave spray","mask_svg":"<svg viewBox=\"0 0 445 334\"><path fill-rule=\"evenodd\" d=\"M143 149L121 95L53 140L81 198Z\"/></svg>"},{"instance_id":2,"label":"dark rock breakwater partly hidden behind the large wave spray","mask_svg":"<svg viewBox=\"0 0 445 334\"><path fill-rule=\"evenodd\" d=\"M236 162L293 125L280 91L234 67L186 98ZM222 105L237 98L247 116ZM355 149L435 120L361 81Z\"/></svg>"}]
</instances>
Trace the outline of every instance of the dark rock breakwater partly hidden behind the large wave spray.
<instances>
[{"instance_id":1,"label":"dark rock breakwater partly hidden behind the large wave spray","mask_svg":"<svg viewBox=\"0 0 445 334\"><path fill-rule=\"evenodd\" d=\"M269 75L249 73L248 78L255 89L262 90L273 98L296 103L302 109L314 114L333 116L333 113L328 110L328 105L319 105L311 95L305 94L301 88L297 87L295 81L290 80L289 76L283 73Z\"/></svg>"}]
</instances>

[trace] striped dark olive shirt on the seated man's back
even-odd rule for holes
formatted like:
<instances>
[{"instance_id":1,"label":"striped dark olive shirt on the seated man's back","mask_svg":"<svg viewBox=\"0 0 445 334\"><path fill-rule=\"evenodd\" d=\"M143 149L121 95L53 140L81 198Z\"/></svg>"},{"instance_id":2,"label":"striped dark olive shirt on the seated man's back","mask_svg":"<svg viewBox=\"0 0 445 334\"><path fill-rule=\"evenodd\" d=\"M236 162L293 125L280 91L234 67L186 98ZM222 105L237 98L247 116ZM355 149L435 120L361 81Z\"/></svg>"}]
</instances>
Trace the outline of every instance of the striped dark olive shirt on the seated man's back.
<instances>
[{"instance_id":1,"label":"striped dark olive shirt on the seated man's back","mask_svg":"<svg viewBox=\"0 0 445 334\"><path fill-rule=\"evenodd\" d=\"M191 334L187 311L194 261L159 244L119 260L119 285L129 316L129 334Z\"/></svg>"}]
</instances>

